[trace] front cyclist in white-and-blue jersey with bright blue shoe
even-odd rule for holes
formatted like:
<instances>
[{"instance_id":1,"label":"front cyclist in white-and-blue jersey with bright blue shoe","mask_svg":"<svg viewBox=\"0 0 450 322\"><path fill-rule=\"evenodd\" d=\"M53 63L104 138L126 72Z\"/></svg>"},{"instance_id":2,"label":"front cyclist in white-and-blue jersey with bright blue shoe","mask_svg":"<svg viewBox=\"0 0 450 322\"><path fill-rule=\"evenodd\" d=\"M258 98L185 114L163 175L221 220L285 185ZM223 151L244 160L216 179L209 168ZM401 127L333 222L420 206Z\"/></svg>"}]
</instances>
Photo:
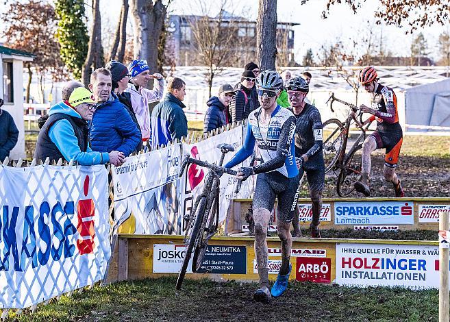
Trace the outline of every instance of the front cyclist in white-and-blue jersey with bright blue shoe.
<instances>
[{"instance_id":1,"label":"front cyclist in white-and-blue jersey with bright blue shoe","mask_svg":"<svg viewBox=\"0 0 450 322\"><path fill-rule=\"evenodd\" d=\"M258 144L264 163L240 168L238 179L245 180L258 174L253 197L253 220L255 221L255 257L258 263L260 288L255 291L256 301L268 303L279 297L288 287L292 266L290 252L292 236L290 224L295 215L299 197L299 171L295 164L295 116L277 105L277 97L283 88L283 79L275 71L263 71L257 79L258 100L261 103L249 114L244 145L225 164L232 168L246 160L255 144ZM282 244L282 265L277 281L268 289L268 249L266 234L271 212L278 199L277 232Z\"/></svg>"}]
</instances>

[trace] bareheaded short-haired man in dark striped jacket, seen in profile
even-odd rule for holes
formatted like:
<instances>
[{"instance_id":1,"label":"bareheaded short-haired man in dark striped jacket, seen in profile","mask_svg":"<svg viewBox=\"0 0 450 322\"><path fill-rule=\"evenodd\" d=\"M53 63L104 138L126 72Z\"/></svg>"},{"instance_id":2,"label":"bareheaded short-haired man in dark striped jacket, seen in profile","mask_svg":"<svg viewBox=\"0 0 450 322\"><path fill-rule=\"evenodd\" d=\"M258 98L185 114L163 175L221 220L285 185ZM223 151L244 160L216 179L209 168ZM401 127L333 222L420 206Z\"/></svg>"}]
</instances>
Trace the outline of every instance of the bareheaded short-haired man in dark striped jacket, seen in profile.
<instances>
[{"instance_id":1,"label":"bareheaded short-haired man in dark striped jacket, seen in profile","mask_svg":"<svg viewBox=\"0 0 450 322\"><path fill-rule=\"evenodd\" d=\"M183 112L186 106L182 103L186 95L186 83L173 77L167 82L167 91L164 101L158 103L151 112L152 149L188 135L188 119Z\"/></svg>"}]
</instances>

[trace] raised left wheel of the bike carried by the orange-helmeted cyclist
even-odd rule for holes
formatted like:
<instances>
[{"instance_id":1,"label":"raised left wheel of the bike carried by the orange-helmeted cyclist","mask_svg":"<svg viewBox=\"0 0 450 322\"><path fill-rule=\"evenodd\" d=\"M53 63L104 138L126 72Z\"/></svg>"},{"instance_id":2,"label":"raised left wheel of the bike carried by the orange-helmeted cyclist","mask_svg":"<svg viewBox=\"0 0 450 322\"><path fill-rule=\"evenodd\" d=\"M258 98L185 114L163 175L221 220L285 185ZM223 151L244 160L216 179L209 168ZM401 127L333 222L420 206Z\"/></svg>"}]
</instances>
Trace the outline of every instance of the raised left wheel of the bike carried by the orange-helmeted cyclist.
<instances>
[{"instance_id":1,"label":"raised left wheel of the bike carried by the orange-helmeted cyclist","mask_svg":"<svg viewBox=\"0 0 450 322\"><path fill-rule=\"evenodd\" d=\"M338 161L342 147L342 128L344 125L338 119L329 119L323 127L323 160L325 161L325 173L333 169Z\"/></svg>"}]
</instances>

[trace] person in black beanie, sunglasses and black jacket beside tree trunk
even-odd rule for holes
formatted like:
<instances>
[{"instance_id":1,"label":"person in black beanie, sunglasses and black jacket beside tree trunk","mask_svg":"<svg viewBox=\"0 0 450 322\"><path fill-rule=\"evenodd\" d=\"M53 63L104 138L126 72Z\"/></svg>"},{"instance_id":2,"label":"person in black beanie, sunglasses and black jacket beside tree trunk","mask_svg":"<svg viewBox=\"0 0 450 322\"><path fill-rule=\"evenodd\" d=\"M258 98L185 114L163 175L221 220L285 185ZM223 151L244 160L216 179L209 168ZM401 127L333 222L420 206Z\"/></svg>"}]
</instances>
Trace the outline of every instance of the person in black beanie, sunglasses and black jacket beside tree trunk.
<instances>
[{"instance_id":1,"label":"person in black beanie, sunglasses and black jacket beside tree trunk","mask_svg":"<svg viewBox=\"0 0 450 322\"><path fill-rule=\"evenodd\" d=\"M244 121L254 110L251 91L255 87L255 74L253 71L244 71L240 77L240 83L236 86L236 95L228 106L228 122Z\"/></svg>"}]
</instances>

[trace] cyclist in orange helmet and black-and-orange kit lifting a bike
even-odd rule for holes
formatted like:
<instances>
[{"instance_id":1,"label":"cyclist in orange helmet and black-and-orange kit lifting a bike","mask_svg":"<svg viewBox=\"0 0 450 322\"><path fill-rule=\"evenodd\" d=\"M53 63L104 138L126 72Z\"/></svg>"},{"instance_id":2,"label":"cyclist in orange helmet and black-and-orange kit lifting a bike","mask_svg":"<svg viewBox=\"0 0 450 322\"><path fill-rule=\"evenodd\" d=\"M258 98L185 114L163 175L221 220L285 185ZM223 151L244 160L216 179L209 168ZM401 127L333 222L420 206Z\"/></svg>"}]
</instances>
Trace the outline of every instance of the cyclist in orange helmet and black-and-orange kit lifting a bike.
<instances>
[{"instance_id":1,"label":"cyclist in orange helmet and black-and-orange kit lifting a bike","mask_svg":"<svg viewBox=\"0 0 450 322\"><path fill-rule=\"evenodd\" d=\"M371 108L364 104L360 106L362 112L372 114L362 125L377 120L377 129L362 144L362 174L361 179L354 184L355 190L366 197L371 195L368 183L371 172L371 153L376 149L384 148L386 149L383 170L384 179L387 182L392 182L395 197L405 197L399 177L395 173L401 143L403 142L403 132L397 111L397 97L392 88L378 83L377 71L375 71L373 66L361 69L359 81L366 92L371 93L372 97Z\"/></svg>"}]
</instances>

